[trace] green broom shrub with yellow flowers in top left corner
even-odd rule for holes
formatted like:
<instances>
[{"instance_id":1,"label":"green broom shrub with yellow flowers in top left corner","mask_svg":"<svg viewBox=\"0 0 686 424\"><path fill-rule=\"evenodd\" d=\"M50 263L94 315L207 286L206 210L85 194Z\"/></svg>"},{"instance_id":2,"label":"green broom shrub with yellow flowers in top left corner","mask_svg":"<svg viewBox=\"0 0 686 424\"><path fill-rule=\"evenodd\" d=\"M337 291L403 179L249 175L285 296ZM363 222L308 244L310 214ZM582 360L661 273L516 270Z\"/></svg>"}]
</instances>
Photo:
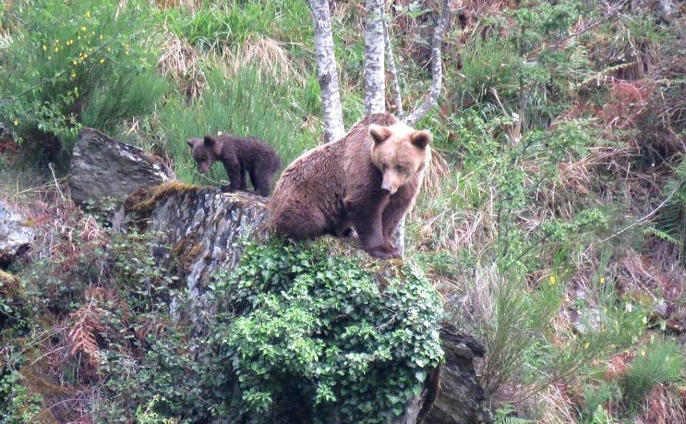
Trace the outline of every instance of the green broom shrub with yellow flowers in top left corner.
<instances>
[{"instance_id":1,"label":"green broom shrub with yellow flowers in top left corner","mask_svg":"<svg viewBox=\"0 0 686 424\"><path fill-rule=\"evenodd\" d=\"M54 136L70 150L81 124L110 130L150 112L166 89L154 69L155 10L137 0L33 1L1 56L0 115L20 135Z\"/></svg>"}]
</instances>

